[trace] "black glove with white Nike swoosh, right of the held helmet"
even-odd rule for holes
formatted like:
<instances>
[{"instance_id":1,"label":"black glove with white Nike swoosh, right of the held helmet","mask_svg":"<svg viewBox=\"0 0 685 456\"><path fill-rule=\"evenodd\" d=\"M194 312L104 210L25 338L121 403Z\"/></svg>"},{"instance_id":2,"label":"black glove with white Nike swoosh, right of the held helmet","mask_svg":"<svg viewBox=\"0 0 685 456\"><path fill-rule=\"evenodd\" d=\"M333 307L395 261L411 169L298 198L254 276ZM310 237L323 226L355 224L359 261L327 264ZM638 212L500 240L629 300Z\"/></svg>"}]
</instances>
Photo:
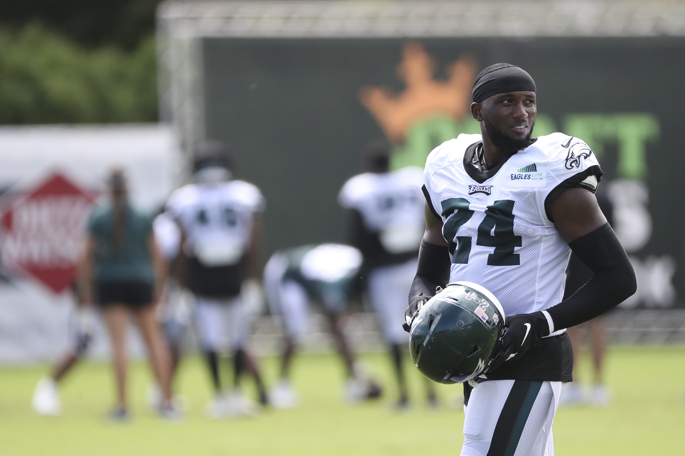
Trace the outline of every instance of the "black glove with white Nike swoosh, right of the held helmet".
<instances>
[{"instance_id":1,"label":"black glove with white Nike swoosh, right of the held helmet","mask_svg":"<svg viewBox=\"0 0 685 456\"><path fill-rule=\"evenodd\" d=\"M545 336L549 336L549 323L543 312L509 317L502 335L495 343L493 353L497 354L490 362L488 371L493 371L505 361L521 358Z\"/></svg>"}]
</instances>

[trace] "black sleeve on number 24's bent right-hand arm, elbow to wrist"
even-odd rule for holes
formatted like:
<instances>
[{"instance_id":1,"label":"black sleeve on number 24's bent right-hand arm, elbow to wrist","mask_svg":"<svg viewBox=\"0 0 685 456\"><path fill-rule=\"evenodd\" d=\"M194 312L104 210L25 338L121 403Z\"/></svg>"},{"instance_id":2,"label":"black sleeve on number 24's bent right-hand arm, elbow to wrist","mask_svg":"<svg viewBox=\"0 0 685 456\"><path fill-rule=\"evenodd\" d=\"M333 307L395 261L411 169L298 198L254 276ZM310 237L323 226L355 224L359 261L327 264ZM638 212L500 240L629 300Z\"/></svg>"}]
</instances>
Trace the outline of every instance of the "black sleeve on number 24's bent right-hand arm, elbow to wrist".
<instances>
[{"instance_id":1,"label":"black sleeve on number 24's bent right-hand arm, elbow to wrist","mask_svg":"<svg viewBox=\"0 0 685 456\"><path fill-rule=\"evenodd\" d=\"M569 247L593 271L593 278L571 297L547 309L555 331L603 314L637 289L630 260L609 224L571 241Z\"/></svg>"}]
</instances>

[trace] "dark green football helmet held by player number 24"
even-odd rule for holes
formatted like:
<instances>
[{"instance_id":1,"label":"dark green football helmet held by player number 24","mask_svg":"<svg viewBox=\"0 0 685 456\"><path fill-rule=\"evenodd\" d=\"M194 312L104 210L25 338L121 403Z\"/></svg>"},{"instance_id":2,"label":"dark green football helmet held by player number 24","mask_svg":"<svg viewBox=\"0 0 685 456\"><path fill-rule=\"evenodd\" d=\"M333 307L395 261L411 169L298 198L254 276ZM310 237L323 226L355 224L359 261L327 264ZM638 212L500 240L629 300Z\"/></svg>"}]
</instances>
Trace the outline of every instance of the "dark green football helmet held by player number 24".
<instances>
[{"instance_id":1,"label":"dark green football helmet held by player number 24","mask_svg":"<svg viewBox=\"0 0 685 456\"><path fill-rule=\"evenodd\" d=\"M419 310L410 332L414 365L442 384L463 383L481 375L504 327L497 298L471 282L454 282Z\"/></svg>"}]
</instances>

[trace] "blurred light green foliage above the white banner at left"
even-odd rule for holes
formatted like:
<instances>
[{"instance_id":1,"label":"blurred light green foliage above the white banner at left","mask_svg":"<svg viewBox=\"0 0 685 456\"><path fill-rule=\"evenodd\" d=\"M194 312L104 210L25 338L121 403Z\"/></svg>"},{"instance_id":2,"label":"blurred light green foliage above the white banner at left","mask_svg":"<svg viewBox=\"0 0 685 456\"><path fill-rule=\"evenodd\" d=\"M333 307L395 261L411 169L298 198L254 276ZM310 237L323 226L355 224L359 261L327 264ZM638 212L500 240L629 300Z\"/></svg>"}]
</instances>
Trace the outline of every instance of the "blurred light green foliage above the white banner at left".
<instances>
[{"instance_id":1,"label":"blurred light green foliage above the white banner at left","mask_svg":"<svg viewBox=\"0 0 685 456\"><path fill-rule=\"evenodd\" d=\"M0 124L158 118L155 42L85 49L42 25L0 31Z\"/></svg>"}]
</instances>

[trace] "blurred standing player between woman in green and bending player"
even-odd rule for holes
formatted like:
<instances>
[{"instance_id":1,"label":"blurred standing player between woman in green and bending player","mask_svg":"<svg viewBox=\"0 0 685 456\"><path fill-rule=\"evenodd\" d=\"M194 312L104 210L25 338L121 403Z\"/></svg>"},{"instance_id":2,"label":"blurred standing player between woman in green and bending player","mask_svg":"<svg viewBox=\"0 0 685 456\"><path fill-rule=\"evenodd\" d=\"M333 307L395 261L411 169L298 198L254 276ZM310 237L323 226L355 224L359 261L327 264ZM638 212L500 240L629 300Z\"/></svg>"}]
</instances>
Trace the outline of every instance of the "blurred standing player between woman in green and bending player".
<instances>
[{"instance_id":1,"label":"blurred standing player between woman in green and bending player","mask_svg":"<svg viewBox=\"0 0 685 456\"><path fill-rule=\"evenodd\" d=\"M195 183L175 191L167 211L182 230L182 256L188 289L195 295L197 327L215 397L212 417L252 414L255 405L240 392L240 375L247 368L256 380L262 405L266 392L256 359L245 346L249 312L241 289L253 289L260 275L259 189L232 180L227 150L210 142L195 152ZM219 352L229 349L234 362L234 389L224 394L219 375Z\"/></svg>"}]
</instances>

